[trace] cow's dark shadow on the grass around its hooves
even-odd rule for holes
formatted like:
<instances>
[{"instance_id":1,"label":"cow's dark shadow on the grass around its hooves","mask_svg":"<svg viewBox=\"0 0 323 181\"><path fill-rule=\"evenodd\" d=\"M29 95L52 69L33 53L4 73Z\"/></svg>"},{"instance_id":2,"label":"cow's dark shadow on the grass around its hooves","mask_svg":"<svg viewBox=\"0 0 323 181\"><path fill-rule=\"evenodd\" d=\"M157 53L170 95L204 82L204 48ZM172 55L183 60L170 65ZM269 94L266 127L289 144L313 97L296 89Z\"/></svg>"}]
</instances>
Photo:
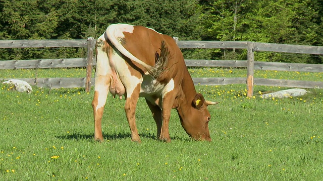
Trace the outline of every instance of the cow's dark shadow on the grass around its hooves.
<instances>
[{"instance_id":1,"label":"cow's dark shadow on the grass around its hooves","mask_svg":"<svg viewBox=\"0 0 323 181\"><path fill-rule=\"evenodd\" d=\"M141 133L140 138L148 138L152 140L159 140L156 135L150 134L150 133ZM82 133L72 133L67 135L60 135L56 136L56 138L59 139L66 139L66 140L89 140L94 141L94 135L93 134L82 134ZM131 139L130 133L111 133L106 134L103 133L103 140L118 140L118 139ZM191 141L191 139L187 138L181 138L177 136L171 136L172 140L181 140L181 141Z\"/></svg>"}]
</instances>

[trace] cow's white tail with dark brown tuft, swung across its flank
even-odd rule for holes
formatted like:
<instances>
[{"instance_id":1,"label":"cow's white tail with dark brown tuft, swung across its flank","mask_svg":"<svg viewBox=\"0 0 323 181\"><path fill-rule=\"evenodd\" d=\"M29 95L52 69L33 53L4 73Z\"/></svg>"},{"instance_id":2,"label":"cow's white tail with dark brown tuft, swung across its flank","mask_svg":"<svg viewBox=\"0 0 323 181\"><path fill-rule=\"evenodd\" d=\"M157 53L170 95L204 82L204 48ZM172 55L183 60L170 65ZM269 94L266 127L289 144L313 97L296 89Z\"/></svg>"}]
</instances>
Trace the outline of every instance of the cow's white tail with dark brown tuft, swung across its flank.
<instances>
[{"instance_id":1,"label":"cow's white tail with dark brown tuft, swung across its flank","mask_svg":"<svg viewBox=\"0 0 323 181\"><path fill-rule=\"evenodd\" d=\"M156 64L155 66L151 66L146 64L145 62L139 60L137 57L135 57L133 54L131 54L124 46L122 46L122 44L120 43L120 41L122 41L121 39L117 39L115 36L115 29L114 28L107 28L106 29L106 36L107 38L111 41L111 43L126 57L128 57L129 59L131 59L132 61L142 65L147 72L153 76L154 79L157 79L160 74L163 72L165 65L167 66L167 62L168 62L168 55L169 55L169 51L168 48L165 47L165 41L161 42L161 46L160 46L160 56L158 56L158 58L155 60Z\"/></svg>"}]
</instances>

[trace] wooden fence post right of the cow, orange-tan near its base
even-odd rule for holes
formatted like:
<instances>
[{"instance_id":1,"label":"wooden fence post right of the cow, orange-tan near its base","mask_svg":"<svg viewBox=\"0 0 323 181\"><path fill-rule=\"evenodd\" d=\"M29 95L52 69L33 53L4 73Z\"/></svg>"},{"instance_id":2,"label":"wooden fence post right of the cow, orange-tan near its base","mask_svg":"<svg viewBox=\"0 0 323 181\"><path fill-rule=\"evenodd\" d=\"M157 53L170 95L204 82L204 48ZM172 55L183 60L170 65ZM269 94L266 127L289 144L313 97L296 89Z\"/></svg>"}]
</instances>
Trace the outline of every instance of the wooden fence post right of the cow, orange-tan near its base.
<instances>
[{"instance_id":1,"label":"wooden fence post right of the cow, orange-tan near its base","mask_svg":"<svg viewBox=\"0 0 323 181\"><path fill-rule=\"evenodd\" d=\"M247 45L247 96L251 98L253 96L254 42L248 42Z\"/></svg>"}]
</instances>

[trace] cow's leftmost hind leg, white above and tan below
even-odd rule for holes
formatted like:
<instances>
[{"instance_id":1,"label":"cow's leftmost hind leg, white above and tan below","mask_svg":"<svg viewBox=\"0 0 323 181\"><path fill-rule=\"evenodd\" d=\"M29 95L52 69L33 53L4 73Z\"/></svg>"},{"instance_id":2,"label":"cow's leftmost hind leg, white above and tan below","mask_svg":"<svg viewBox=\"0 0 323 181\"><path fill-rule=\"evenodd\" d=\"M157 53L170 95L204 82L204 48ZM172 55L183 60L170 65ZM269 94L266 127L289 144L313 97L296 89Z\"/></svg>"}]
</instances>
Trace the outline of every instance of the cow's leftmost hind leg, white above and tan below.
<instances>
[{"instance_id":1,"label":"cow's leftmost hind leg, white above and tan below","mask_svg":"<svg viewBox=\"0 0 323 181\"><path fill-rule=\"evenodd\" d=\"M108 75L98 75L95 77L94 98L92 101L92 108L94 113L94 139L102 141L102 127L101 120L103 116L104 105L106 97L109 93L110 77Z\"/></svg>"}]
</instances>

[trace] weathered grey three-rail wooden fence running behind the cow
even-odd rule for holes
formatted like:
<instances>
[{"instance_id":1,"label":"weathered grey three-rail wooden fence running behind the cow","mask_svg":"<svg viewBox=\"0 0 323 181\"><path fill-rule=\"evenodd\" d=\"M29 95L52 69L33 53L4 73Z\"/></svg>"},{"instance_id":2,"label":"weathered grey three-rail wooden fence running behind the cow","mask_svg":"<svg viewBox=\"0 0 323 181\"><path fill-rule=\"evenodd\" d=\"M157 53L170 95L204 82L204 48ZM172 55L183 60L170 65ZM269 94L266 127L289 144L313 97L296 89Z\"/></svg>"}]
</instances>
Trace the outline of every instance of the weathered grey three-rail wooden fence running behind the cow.
<instances>
[{"instance_id":1,"label":"weathered grey three-rail wooden fence running behind the cow","mask_svg":"<svg viewBox=\"0 0 323 181\"><path fill-rule=\"evenodd\" d=\"M253 95L253 85L284 86L300 88L323 88L322 81L284 80L270 78L254 78L254 70L285 70L323 72L322 64L279 63L254 61L254 51L271 51L284 53L304 53L323 55L323 47L305 45L287 45L256 42L234 41L177 41L180 48L221 48L221 49L247 49L248 60L191 60L185 59L187 66L202 67L247 67L247 77L207 77L193 78L194 84L199 85L226 85L247 84L248 96ZM90 90L94 82L91 77L92 67L95 66L93 50L96 40L0 40L0 48L57 48L75 47L86 48L87 58L69 59L37 59L37 60L6 60L0 61L0 69L20 68L62 68L62 67L86 67L83 78L19 78L31 85L47 86L51 88L61 87L85 87ZM0 75L1 76L1 75ZM1 78L0 79L4 79Z\"/></svg>"}]
</instances>

